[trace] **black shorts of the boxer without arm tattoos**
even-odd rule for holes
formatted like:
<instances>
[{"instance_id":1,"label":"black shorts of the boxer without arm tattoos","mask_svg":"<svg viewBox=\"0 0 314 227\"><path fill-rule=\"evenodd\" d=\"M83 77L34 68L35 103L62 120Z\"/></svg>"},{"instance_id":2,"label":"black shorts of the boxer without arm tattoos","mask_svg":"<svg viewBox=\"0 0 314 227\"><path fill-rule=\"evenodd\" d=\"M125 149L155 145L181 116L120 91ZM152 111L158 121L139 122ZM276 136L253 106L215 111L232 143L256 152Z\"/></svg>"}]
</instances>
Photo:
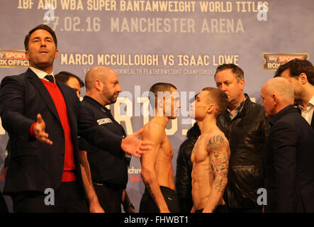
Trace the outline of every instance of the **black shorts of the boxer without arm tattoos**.
<instances>
[{"instance_id":1,"label":"black shorts of the boxer without arm tattoos","mask_svg":"<svg viewBox=\"0 0 314 227\"><path fill-rule=\"evenodd\" d=\"M168 187L160 186L162 191L162 196L164 196L164 201L168 206L170 213L179 213L178 199L176 197L176 191L169 189ZM150 196L150 192L145 189L142 195L142 200L140 201L140 213L159 213L159 208L155 204L154 199Z\"/></svg>"}]
</instances>

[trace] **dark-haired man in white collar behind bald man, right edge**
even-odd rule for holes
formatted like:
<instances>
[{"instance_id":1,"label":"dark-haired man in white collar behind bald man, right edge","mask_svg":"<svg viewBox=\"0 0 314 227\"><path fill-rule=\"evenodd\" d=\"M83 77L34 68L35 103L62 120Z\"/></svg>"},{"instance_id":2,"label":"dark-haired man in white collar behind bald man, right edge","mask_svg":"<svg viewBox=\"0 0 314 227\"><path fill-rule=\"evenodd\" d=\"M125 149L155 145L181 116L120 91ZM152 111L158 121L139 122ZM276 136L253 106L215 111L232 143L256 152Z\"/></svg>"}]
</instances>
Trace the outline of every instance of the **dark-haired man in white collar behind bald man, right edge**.
<instances>
[{"instance_id":1,"label":"dark-haired man in white collar behind bald man, right edge","mask_svg":"<svg viewBox=\"0 0 314 227\"><path fill-rule=\"evenodd\" d=\"M275 77L288 79L303 118L314 128L314 66L308 60L294 59L281 65Z\"/></svg>"}]
</instances>

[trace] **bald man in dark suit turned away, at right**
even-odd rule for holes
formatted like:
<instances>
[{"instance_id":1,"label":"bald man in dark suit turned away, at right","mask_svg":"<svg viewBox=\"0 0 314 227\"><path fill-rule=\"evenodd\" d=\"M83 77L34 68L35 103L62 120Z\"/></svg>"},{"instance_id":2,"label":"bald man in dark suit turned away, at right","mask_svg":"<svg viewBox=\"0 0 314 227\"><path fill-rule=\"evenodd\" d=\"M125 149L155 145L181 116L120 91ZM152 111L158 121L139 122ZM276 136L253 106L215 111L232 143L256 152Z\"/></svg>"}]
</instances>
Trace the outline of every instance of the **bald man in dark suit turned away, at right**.
<instances>
[{"instance_id":1,"label":"bald man in dark suit turned away, at right","mask_svg":"<svg viewBox=\"0 0 314 227\"><path fill-rule=\"evenodd\" d=\"M264 146L267 212L314 212L314 130L293 106L293 87L276 77L262 87L271 118Z\"/></svg>"}]
</instances>

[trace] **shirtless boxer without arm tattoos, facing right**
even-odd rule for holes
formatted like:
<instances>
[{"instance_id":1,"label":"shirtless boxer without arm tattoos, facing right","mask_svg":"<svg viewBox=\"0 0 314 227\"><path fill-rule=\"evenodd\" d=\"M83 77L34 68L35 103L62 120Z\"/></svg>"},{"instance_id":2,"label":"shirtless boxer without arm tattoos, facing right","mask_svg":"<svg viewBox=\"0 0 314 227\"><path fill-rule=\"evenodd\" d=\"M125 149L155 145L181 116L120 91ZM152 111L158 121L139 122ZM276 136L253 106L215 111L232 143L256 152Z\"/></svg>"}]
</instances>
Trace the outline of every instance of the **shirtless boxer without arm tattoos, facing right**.
<instances>
[{"instance_id":1,"label":"shirtless boxer without arm tattoos, facing right","mask_svg":"<svg viewBox=\"0 0 314 227\"><path fill-rule=\"evenodd\" d=\"M174 187L172 156L174 151L165 129L169 119L179 114L179 93L172 84L157 83L150 88L150 103L155 115L144 126L142 140L154 143L152 150L142 155L142 179L145 192L140 201L140 213L179 212ZM160 96L159 94L162 94Z\"/></svg>"}]
</instances>

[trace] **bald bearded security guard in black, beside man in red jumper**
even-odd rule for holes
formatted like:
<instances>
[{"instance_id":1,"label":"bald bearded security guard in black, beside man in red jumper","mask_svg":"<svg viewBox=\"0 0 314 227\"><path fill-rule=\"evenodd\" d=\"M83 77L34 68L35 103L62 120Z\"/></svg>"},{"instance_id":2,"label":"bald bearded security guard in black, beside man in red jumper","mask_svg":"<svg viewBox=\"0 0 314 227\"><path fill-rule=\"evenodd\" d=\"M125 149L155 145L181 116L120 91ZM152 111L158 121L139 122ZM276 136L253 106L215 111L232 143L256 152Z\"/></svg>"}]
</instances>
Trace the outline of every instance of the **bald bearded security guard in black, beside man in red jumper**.
<instances>
[{"instance_id":1,"label":"bald bearded security guard in black, beside man in red jumper","mask_svg":"<svg viewBox=\"0 0 314 227\"><path fill-rule=\"evenodd\" d=\"M82 101L90 116L96 123L109 131L125 137L122 126L113 118L107 105L114 104L121 92L118 74L108 67L96 66L87 72L85 77L86 95ZM120 213L121 203L125 212L135 212L125 192L128 183L128 165L130 155L100 150L80 139L80 157L82 175L86 184L86 192L95 198L97 212ZM88 160L88 162L87 162ZM97 196L94 194L96 193ZM100 205L100 206L99 206Z\"/></svg>"}]
</instances>

